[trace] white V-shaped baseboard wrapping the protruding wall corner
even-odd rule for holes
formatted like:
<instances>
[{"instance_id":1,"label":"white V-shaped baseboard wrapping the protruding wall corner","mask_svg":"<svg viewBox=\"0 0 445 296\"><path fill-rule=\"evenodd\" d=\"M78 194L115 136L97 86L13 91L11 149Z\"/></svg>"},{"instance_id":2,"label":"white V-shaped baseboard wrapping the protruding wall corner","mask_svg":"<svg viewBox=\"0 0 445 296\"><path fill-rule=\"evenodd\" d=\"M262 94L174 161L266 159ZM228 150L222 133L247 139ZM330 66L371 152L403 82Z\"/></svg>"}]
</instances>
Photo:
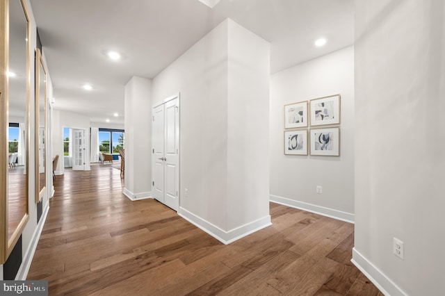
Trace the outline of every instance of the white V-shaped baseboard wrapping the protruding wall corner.
<instances>
[{"instance_id":1,"label":"white V-shaped baseboard wrapping the protruding wall corner","mask_svg":"<svg viewBox=\"0 0 445 296\"><path fill-rule=\"evenodd\" d=\"M258 220L249 222L248 224L244 224L241 227L237 227L236 229L224 231L223 229L220 229L219 227L211 224L207 220L204 220L201 217L198 217L197 215L187 211L185 208L179 208L178 215L183 217L188 222L191 222L191 224L195 225L196 227L209 233L211 236L213 236L213 238L216 238L220 242L223 242L223 244L225 245L228 245L235 240L239 240L244 236L248 236L250 233L259 231L264 227L272 225L272 223L270 222L270 215L267 215Z\"/></svg>"}]
</instances>

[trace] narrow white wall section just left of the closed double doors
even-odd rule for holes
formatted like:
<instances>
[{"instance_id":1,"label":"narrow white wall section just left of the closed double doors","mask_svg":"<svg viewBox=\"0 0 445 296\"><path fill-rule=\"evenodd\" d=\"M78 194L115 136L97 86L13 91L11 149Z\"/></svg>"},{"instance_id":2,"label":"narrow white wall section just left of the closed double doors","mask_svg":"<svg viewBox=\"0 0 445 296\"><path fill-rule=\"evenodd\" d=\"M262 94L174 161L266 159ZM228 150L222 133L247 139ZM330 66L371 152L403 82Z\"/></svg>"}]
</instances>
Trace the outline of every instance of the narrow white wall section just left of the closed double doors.
<instances>
[{"instance_id":1,"label":"narrow white wall section just left of the closed double doors","mask_svg":"<svg viewBox=\"0 0 445 296\"><path fill-rule=\"evenodd\" d=\"M125 187L130 199L151 197L152 81L133 76L125 85Z\"/></svg>"}]
</instances>

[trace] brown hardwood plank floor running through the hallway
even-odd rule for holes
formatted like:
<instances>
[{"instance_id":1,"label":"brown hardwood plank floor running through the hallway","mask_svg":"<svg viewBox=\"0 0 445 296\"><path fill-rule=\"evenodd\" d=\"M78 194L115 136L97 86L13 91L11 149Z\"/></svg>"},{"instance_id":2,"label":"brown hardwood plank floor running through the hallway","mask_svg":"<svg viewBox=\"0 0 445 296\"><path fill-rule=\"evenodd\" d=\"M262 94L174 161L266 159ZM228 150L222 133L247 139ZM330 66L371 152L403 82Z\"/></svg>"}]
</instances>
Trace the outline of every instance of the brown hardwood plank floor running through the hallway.
<instances>
[{"instance_id":1,"label":"brown hardwood plank floor running through the hallway","mask_svg":"<svg viewBox=\"0 0 445 296\"><path fill-rule=\"evenodd\" d=\"M91 169L55 181L28 274L49 295L382 295L350 263L353 224L270 204L273 226L223 245Z\"/></svg>"}]
</instances>

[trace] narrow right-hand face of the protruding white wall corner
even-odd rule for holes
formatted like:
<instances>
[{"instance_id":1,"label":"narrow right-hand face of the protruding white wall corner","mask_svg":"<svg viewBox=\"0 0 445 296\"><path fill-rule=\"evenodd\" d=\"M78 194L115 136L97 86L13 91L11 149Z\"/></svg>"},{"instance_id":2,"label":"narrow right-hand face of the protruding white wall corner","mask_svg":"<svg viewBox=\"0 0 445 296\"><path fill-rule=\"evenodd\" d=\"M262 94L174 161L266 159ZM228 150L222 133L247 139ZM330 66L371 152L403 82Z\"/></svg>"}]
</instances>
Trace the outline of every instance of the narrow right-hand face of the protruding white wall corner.
<instances>
[{"instance_id":1,"label":"narrow right-hand face of the protruding white wall corner","mask_svg":"<svg viewBox=\"0 0 445 296\"><path fill-rule=\"evenodd\" d=\"M270 45L228 26L227 230L269 215Z\"/></svg>"}]
</instances>

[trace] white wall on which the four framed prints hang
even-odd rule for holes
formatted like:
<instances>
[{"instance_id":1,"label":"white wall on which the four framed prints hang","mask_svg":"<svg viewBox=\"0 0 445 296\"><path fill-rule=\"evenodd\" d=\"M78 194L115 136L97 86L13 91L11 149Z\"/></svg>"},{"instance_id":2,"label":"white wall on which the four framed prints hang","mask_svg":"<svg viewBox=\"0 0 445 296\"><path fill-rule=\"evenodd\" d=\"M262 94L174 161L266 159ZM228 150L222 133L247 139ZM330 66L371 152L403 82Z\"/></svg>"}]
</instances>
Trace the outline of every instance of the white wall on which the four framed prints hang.
<instances>
[{"instance_id":1,"label":"white wall on which the four framed prints hang","mask_svg":"<svg viewBox=\"0 0 445 296\"><path fill-rule=\"evenodd\" d=\"M270 81L270 199L353 221L353 47L284 69ZM284 105L331 94L341 94L340 156L284 155ZM317 185L323 194L316 194Z\"/></svg>"}]
</instances>

